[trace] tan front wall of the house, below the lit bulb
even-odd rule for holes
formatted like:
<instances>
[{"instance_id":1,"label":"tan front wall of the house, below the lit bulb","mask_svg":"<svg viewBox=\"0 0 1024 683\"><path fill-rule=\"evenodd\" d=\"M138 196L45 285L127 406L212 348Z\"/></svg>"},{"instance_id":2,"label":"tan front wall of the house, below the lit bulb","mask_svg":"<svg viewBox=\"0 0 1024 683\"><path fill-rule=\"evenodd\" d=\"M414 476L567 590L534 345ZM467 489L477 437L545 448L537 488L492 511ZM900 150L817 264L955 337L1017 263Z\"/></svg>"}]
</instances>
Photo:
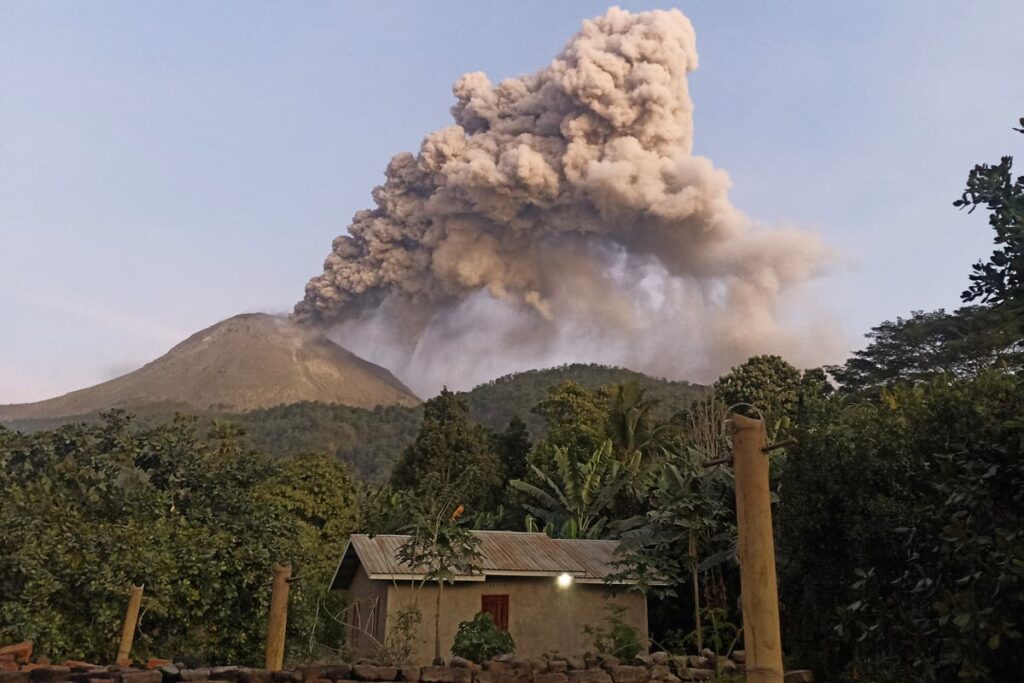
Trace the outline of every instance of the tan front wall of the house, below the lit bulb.
<instances>
[{"instance_id":1,"label":"tan front wall of the house, below the lit bulb","mask_svg":"<svg viewBox=\"0 0 1024 683\"><path fill-rule=\"evenodd\" d=\"M383 583L383 582L381 582ZM483 582L445 585L441 599L441 656L452 656L452 644L459 624L480 611L484 595L509 596L509 633L516 644L516 656L538 657L558 651L582 654L593 649L584 627L607 618L609 603L625 609L623 621L647 641L647 602L637 592L600 584L577 584L559 588L554 577L488 578ZM416 602L423 611L421 636L416 639L415 664L430 664L434 656L434 604L437 587L420 589L407 583L388 586L388 618L402 605Z\"/></svg>"}]
</instances>

